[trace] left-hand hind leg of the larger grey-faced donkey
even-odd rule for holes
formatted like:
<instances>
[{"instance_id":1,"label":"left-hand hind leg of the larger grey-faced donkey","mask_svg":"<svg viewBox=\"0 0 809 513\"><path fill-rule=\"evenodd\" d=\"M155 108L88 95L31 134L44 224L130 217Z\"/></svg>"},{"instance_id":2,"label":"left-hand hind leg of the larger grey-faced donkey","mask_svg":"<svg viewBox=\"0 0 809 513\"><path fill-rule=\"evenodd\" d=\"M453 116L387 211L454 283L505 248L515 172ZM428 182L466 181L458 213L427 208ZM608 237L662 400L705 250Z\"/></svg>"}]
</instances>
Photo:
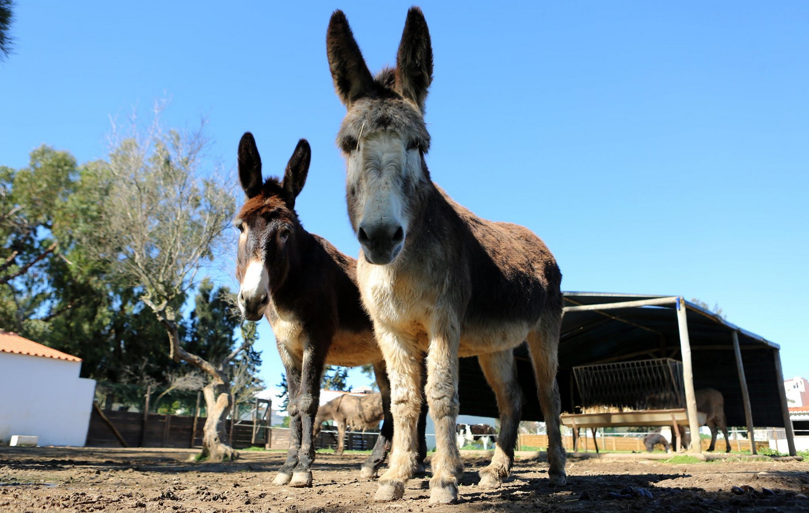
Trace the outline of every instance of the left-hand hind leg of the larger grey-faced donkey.
<instances>
[{"instance_id":1,"label":"left-hand hind leg of the larger grey-faced donkey","mask_svg":"<svg viewBox=\"0 0 809 513\"><path fill-rule=\"evenodd\" d=\"M480 472L481 488L499 488L514 465L519 419L523 408L523 390L517 382L517 368L511 350L481 354L477 357L481 369L497 396L500 411L500 435L494 456L488 467Z\"/></svg>"}]
</instances>

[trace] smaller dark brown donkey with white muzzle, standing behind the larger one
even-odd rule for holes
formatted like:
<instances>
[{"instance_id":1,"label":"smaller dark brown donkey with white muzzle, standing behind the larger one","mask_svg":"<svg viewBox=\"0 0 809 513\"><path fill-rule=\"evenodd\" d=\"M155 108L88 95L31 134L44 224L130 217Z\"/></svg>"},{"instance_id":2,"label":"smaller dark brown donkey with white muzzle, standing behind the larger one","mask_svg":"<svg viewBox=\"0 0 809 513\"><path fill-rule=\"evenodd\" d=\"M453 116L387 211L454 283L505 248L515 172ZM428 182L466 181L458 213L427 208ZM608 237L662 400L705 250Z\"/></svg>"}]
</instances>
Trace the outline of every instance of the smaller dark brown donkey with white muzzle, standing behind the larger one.
<instances>
[{"instance_id":1,"label":"smaller dark brown donkey with white muzzle, standing behind the larger one","mask_svg":"<svg viewBox=\"0 0 809 513\"><path fill-rule=\"evenodd\" d=\"M384 360L362 310L356 261L328 240L303 229L295 198L309 171L311 150L301 139L283 181L261 178L261 159L249 132L239 142L239 179L247 201L235 219L239 228L236 276L239 308L248 320L266 316L286 369L290 397L290 451L275 484L311 486L315 458L312 428L324 365L372 363L382 392L384 421L362 476L374 477L391 447L390 384ZM421 422L421 461L426 455Z\"/></svg>"}]
</instances>

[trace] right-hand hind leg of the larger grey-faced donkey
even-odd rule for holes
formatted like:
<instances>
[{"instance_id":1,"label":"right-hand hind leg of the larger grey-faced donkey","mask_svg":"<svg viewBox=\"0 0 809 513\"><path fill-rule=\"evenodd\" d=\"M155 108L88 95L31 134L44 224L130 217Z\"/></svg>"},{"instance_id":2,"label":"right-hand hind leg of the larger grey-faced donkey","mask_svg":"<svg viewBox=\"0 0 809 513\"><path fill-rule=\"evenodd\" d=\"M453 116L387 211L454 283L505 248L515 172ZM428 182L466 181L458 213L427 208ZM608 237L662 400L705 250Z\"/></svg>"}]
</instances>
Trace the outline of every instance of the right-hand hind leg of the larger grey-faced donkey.
<instances>
[{"instance_id":1,"label":"right-hand hind leg of the larger grey-faced donkey","mask_svg":"<svg viewBox=\"0 0 809 513\"><path fill-rule=\"evenodd\" d=\"M528 333L528 350L534 364L536 393L548 428L548 478L551 485L561 486L567 484L565 450L561 447L559 429L561 399L556 381L561 316L546 314L541 322L537 329Z\"/></svg>"}]
</instances>

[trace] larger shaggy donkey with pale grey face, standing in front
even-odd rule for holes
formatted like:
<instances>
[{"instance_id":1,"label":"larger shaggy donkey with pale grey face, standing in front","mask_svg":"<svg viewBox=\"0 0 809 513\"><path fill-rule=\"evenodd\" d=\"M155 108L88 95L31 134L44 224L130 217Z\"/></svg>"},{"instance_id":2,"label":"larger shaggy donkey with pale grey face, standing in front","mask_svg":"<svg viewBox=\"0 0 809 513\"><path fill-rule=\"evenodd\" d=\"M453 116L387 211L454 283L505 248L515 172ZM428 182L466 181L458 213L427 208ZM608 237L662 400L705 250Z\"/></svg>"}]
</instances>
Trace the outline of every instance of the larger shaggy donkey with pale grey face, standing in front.
<instances>
[{"instance_id":1,"label":"larger shaggy donkey with pale grey face, standing in front","mask_svg":"<svg viewBox=\"0 0 809 513\"><path fill-rule=\"evenodd\" d=\"M337 144L347 164L349 218L362 246L358 282L392 385L393 455L375 498L402 497L417 467L425 352L437 443L430 502L455 501L464 469L455 444L459 356L477 355L497 396L499 443L481 470L481 486L502 483L514 460L522 402L512 350L524 340L548 423L549 478L565 484L556 383L561 273L532 231L478 218L430 180L423 115L433 53L424 16L410 9L396 69L376 77L341 11L332 15L326 44L348 111Z\"/></svg>"}]
</instances>

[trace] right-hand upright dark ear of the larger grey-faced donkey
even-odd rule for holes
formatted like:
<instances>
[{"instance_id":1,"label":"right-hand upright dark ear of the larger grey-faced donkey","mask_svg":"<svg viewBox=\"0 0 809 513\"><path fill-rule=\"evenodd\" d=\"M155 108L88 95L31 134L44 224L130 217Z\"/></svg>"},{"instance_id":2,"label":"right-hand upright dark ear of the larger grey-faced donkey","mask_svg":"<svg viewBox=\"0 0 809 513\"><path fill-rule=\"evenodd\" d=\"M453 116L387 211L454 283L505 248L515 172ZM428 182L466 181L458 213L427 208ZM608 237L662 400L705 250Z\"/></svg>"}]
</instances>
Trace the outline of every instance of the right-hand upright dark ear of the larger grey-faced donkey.
<instances>
[{"instance_id":1,"label":"right-hand upright dark ear of the larger grey-faced donkey","mask_svg":"<svg viewBox=\"0 0 809 513\"><path fill-rule=\"evenodd\" d=\"M396 54L396 90L424 112L427 89L433 81L433 47L430 30L418 7L410 7Z\"/></svg>"}]
</instances>

